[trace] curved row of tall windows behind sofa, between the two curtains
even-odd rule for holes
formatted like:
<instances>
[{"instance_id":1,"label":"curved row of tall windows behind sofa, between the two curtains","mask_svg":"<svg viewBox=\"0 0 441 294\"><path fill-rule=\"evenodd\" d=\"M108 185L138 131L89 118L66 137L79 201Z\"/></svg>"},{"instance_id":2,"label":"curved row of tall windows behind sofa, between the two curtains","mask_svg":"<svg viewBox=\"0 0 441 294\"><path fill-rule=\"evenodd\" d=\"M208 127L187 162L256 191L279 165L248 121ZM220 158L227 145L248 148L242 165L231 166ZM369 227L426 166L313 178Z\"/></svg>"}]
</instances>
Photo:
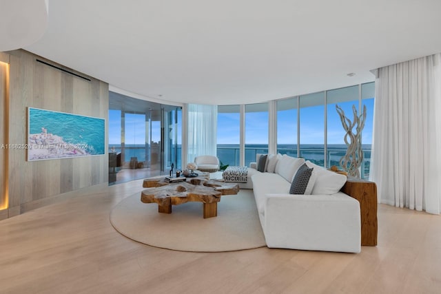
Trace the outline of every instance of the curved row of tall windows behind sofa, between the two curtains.
<instances>
[{"instance_id":1,"label":"curved row of tall windows behind sofa, between the two curtains","mask_svg":"<svg viewBox=\"0 0 441 294\"><path fill-rule=\"evenodd\" d=\"M268 134L268 103L245 105L245 165L256 161L256 154L267 153L269 136L276 136L277 152L280 154L301 156L323 167L339 166L347 146L336 105L351 120L352 105L355 105L358 115L360 105L361 109L366 105L367 117L362 130L364 160L360 169L362 178L368 178L374 92L375 85L371 82L280 99L276 101L276 109L272 110L276 112L276 134ZM229 165L240 165L240 124L240 105L218 107L218 157Z\"/></svg>"}]
</instances>

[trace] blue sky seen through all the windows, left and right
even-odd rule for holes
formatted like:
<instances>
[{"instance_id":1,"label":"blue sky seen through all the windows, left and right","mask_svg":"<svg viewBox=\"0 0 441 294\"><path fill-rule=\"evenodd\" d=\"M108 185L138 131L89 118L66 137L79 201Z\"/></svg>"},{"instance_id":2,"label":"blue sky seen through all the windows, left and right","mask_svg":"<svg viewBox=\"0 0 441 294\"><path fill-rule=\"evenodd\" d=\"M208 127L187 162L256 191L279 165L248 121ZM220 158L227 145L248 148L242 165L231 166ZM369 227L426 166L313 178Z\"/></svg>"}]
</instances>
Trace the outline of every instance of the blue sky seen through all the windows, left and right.
<instances>
[{"instance_id":1,"label":"blue sky seen through all the windows, left and right","mask_svg":"<svg viewBox=\"0 0 441 294\"><path fill-rule=\"evenodd\" d=\"M367 105L367 119L363 129L362 141L364 144L372 142L373 123L373 98L363 99ZM353 101L338 103L345 111L346 116L353 120ZM300 108L300 143L323 144L324 141L324 106ZM340 117L336 112L335 104L328 105L327 110L327 143L344 144L345 131ZM158 142L161 138L159 122L152 125L152 140ZM296 109L278 112L278 144L296 144ZM145 142L145 118L141 115L126 114L125 116L125 141L127 144L143 144ZM137 127L136 127L137 126ZM218 144L239 144L239 114L218 114ZM109 143L121 143L121 111L110 110L109 112ZM268 113L252 112L245 115L245 143L267 144L268 143Z\"/></svg>"}]
</instances>

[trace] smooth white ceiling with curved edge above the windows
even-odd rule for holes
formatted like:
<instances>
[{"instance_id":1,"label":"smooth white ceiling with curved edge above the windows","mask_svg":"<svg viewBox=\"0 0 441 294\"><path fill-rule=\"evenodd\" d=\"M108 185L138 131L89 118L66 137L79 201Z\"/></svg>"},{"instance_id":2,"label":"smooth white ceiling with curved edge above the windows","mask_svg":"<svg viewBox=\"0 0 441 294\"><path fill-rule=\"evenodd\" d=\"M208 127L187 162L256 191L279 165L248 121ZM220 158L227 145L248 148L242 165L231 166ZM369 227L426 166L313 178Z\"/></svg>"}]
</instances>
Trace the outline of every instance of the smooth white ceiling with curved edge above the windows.
<instances>
[{"instance_id":1,"label":"smooth white ceiling with curved edge above the windows","mask_svg":"<svg viewBox=\"0 0 441 294\"><path fill-rule=\"evenodd\" d=\"M440 0L51 0L25 50L145 97L255 103L441 52L440 12Z\"/></svg>"}]
</instances>

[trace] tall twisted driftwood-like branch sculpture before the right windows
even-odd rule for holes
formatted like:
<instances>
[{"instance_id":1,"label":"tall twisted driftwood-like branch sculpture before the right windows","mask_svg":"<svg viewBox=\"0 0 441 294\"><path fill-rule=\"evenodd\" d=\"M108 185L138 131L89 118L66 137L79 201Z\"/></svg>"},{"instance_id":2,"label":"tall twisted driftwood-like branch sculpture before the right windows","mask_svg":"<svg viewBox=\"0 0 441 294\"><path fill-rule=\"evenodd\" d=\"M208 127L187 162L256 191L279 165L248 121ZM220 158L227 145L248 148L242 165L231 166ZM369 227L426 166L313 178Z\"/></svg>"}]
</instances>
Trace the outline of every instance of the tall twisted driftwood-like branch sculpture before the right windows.
<instances>
[{"instance_id":1,"label":"tall twisted driftwood-like branch sculpture before the right windows","mask_svg":"<svg viewBox=\"0 0 441 294\"><path fill-rule=\"evenodd\" d=\"M346 131L345 143L347 151L345 156L340 158L340 166L347 171L349 176L360 178L360 171L358 170L363 162L363 150L361 146L361 132L365 127L366 120L366 105L363 107L363 112L358 116L355 105L352 105L353 121L345 116L345 112L341 107L336 105L338 115L342 121L342 126ZM356 127L355 133L352 132L353 127Z\"/></svg>"}]
</instances>

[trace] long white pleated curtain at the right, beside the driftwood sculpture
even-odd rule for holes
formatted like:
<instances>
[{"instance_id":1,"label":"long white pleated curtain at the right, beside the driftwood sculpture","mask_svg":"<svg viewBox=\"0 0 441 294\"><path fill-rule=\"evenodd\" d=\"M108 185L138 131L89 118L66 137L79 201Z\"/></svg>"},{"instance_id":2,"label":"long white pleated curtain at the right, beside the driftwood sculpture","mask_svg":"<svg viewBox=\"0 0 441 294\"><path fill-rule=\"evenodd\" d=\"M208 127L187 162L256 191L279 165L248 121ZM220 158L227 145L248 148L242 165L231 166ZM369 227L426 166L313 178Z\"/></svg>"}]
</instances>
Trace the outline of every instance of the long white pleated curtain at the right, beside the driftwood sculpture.
<instances>
[{"instance_id":1,"label":"long white pleated curtain at the right, beside the driftwood sculpture","mask_svg":"<svg viewBox=\"0 0 441 294\"><path fill-rule=\"evenodd\" d=\"M380 203L440 214L440 59L377 70L370 177Z\"/></svg>"}]
</instances>

